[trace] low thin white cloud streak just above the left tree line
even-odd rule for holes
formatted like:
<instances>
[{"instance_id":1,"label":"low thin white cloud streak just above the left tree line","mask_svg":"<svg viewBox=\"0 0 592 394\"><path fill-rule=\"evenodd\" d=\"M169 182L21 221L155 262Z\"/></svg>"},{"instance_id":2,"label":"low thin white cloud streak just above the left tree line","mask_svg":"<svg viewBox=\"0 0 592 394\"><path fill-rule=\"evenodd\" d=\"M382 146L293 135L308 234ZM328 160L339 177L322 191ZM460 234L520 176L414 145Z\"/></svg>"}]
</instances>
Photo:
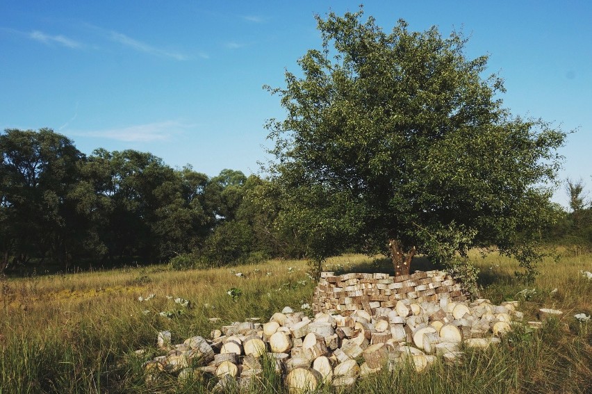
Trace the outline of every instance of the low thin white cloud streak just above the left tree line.
<instances>
[{"instance_id":1,"label":"low thin white cloud streak just above the left tree line","mask_svg":"<svg viewBox=\"0 0 592 394\"><path fill-rule=\"evenodd\" d=\"M174 120L148 124L135 124L114 129L96 131L71 132L75 136L108 138L124 142L158 142L170 140L174 135L190 129L191 124L183 124Z\"/></svg>"}]
</instances>

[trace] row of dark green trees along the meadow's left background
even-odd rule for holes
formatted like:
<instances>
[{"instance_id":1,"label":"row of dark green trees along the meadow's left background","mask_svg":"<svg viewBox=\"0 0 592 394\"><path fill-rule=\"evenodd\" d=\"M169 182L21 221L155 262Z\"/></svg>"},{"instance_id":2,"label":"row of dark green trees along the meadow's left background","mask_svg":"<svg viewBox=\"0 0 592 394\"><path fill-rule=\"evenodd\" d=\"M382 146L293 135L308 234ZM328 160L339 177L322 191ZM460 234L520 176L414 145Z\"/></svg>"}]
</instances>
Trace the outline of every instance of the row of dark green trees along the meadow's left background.
<instances>
[{"instance_id":1,"label":"row of dark green trees along the meadow's left background","mask_svg":"<svg viewBox=\"0 0 592 394\"><path fill-rule=\"evenodd\" d=\"M246 198L265 183L256 175L210 178L135 150L87 156L51 129L4 131L0 155L0 272L302 255L279 247L270 206Z\"/></svg>"}]
</instances>

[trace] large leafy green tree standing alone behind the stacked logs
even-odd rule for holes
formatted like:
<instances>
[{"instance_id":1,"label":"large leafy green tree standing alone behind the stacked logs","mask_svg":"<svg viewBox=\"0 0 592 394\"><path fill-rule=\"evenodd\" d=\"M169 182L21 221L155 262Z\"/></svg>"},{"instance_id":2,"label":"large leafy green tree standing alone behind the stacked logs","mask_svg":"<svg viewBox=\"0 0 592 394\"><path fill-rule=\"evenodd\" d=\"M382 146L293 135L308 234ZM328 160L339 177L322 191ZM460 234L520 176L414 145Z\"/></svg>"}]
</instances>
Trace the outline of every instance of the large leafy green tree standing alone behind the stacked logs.
<instances>
[{"instance_id":1,"label":"large leafy green tree standing alone behind the stacked logs","mask_svg":"<svg viewBox=\"0 0 592 394\"><path fill-rule=\"evenodd\" d=\"M504 108L502 79L459 33L385 33L363 10L316 19L322 48L268 88L287 114L268 123L277 225L318 263L390 252L405 274L416 253L450 263L495 245L532 268L565 133Z\"/></svg>"}]
</instances>

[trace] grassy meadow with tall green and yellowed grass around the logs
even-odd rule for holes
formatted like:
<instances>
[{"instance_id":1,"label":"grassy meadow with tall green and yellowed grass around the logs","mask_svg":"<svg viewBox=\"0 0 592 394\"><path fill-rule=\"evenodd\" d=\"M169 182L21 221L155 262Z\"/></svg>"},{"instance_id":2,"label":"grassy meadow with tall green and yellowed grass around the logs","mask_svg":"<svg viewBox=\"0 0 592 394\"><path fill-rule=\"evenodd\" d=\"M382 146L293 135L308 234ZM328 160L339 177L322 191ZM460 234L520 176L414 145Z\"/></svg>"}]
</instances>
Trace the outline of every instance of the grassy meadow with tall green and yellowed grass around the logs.
<instances>
[{"instance_id":1,"label":"grassy meadow with tall green and yellowed grass around the logs","mask_svg":"<svg viewBox=\"0 0 592 394\"><path fill-rule=\"evenodd\" d=\"M592 281L579 273L592 271L592 255L548 258L534 286L528 287L513 279L516 261L476 253L472 260L482 272L481 297L496 304L522 301L525 320L534 320L542 307L561 309L563 317L538 331L518 327L500 347L469 352L461 366L436 363L421 374L411 369L379 374L359 381L348 393L388 393L393 388L401 393L592 392L592 322L586 326L573 317L592 314ZM425 261L415 264L429 268ZM392 273L384 259L359 255L333 258L325 268ZM244 277L236 276L238 272ZM311 302L314 286L304 261L183 272L151 266L1 279L0 393L207 393L213 381L181 387L171 379L147 387L144 359L133 351L145 349L153 356L156 334L164 329L178 343L189 336L208 336L211 329L229 322L266 321L283 306L298 310ZM227 294L233 288L236 297ZM138 300L150 294L155 297ZM192 308L176 304L177 297L190 300ZM252 392L285 390L268 372L263 386Z\"/></svg>"}]
</instances>

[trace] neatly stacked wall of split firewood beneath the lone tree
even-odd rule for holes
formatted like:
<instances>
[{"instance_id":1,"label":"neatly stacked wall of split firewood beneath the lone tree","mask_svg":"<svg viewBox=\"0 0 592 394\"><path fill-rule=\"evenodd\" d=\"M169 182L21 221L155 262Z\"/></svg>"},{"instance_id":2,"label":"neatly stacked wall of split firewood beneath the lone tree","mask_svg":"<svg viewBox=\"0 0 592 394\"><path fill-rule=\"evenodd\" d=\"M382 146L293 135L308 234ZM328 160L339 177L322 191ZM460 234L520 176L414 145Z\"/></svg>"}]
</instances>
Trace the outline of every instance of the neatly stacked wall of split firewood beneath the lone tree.
<instances>
[{"instance_id":1,"label":"neatly stacked wall of split firewood beneath the lone tree","mask_svg":"<svg viewBox=\"0 0 592 394\"><path fill-rule=\"evenodd\" d=\"M343 274L322 272L313 296L313 312L348 315L364 310L393 308L400 299L437 302L442 298L464 301L461 284L445 271L418 271L390 277L388 274Z\"/></svg>"}]
</instances>

